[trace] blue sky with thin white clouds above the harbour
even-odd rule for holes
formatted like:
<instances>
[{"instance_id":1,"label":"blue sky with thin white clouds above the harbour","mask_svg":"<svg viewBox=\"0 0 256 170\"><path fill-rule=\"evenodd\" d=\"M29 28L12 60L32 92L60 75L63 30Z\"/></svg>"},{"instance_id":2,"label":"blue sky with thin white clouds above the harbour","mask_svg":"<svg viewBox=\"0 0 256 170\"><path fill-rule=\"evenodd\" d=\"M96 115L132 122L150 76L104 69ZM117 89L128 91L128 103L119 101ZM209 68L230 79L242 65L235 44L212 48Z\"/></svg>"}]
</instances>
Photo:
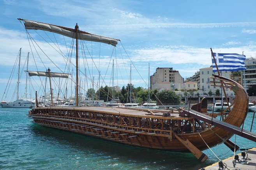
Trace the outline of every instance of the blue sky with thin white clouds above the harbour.
<instances>
[{"instance_id":1,"label":"blue sky with thin white clouds above the harbour","mask_svg":"<svg viewBox=\"0 0 256 170\"><path fill-rule=\"evenodd\" d=\"M213 52L244 53L246 57L256 57L254 0L1 0L0 6L0 97L6 96L5 89L20 48L21 65L25 63L28 52L32 61L39 59L34 57L35 52L31 55L28 35L17 18L68 28L74 28L78 23L82 31L121 40L116 50L122 49L122 55L117 55L115 62L123 62L123 65L115 63L117 68L114 71L114 85L120 87L129 82L130 64L132 84L147 88L148 64L150 75L158 67L167 67L178 70L185 79L200 68L212 64L210 48ZM65 64L56 48L49 47L49 44L56 43L42 41L37 35L42 31L30 30L29 33L48 52L49 58L42 59L46 61L46 66L39 64L38 69L45 71L51 67L55 71L55 66L60 68ZM60 35L48 35L56 39L60 49L67 52L66 45L70 46L71 40L65 39L65 42ZM91 51L99 45L87 42L87 47ZM87 67L94 68L89 77L98 81L96 66L99 66L102 76L107 73L106 85L111 86L113 48L103 44L100 48L101 50L92 53L93 58L101 58L96 59L95 65L88 59ZM107 49L110 52L103 52ZM54 65L49 59L57 64ZM80 59L79 63L82 63ZM29 60L29 68L34 69L34 66L35 63ZM56 72L59 71L56 69ZM124 72L125 76L121 76L119 72ZM21 78L21 95L26 82L24 75ZM92 87L90 83L87 86ZM10 87L8 93L11 91ZM5 97L4 100L11 99Z\"/></svg>"}]
</instances>

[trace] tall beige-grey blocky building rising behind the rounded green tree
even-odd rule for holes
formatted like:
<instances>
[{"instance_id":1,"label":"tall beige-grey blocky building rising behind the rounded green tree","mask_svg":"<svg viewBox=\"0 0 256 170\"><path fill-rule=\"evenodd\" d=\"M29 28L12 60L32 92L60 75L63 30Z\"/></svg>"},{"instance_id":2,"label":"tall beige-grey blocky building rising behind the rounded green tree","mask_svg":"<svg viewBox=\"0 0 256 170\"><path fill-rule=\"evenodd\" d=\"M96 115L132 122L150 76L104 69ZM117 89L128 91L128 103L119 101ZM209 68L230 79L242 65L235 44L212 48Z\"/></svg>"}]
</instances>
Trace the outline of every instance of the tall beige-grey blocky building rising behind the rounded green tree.
<instances>
[{"instance_id":1,"label":"tall beige-grey blocky building rising behind the rounded green tree","mask_svg":"<svg viewBox=\"0 0 256 170\"><path fill-rule=\"evenodd\" d=\"M184 78L180 75L179 71L173 68L157 68L154 75L150 76L151 89L153 89L154 84L161 82L182 84L184 83Z\"/></svg>"}]
</instances>

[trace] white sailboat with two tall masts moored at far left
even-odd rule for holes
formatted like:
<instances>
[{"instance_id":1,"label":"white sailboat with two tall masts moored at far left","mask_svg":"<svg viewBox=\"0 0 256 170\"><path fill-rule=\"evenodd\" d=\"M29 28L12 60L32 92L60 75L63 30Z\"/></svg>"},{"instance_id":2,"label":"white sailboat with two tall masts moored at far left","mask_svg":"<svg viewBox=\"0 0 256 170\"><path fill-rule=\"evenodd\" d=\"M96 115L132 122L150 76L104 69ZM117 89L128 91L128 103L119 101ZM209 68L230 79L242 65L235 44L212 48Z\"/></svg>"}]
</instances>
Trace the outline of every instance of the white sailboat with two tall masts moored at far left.
<instances>
[{"instance_id":1,"label":"white sailboat with two tall masts moored at far left","mask_svg":"<svg viewBox=\"0 0 256 170\"><path fill-rule=\"evenodd\" d=\"M29 56L29 52L28 52ZM17 99L13 102L1 101L0 106L2 108L33 108L35 107L35 102L33 99L27 99L27 80L26 76L26 92L25 98L19 98L19 83L20 83L20 59L21 59L21 48L19 49L19 68L18 68L18 81L17 81ZM28 69L28 57L27 57L27 69ZM8 85L7 85L8 86Z\"/></svg>"}]
</instances>

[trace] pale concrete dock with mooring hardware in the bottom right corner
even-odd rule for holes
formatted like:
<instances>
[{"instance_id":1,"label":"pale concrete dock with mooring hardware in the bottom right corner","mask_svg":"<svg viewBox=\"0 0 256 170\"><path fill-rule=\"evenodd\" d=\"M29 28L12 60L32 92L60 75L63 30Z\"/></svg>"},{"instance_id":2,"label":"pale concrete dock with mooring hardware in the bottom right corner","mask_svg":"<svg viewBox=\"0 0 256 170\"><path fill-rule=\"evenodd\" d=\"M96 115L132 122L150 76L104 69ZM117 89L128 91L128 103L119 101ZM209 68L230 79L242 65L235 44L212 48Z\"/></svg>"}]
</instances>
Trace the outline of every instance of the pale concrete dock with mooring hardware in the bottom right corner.
<instances>
[{"instance_id":1,"label":"pale concrete dock with mooring hardware in the bottom right corner","mask_svg":"<svg viewBox=\"0 0 256 170\"><path fill-rule=\"evenodd\" d=\"M248 156L246 153L248 154ZM230 158L227 158L226 160L222 161L224 165L223 168L220 168L219 162L216 162L208 167L201 168L201 170L256 170L256 147L249 149L248 151L245 151L245 158L247 157L247 160L243 159L241 153L237 155L239 161L236 160L235 164L233 163L234 156L231 156Z\"/></svg>"}]
</instances>

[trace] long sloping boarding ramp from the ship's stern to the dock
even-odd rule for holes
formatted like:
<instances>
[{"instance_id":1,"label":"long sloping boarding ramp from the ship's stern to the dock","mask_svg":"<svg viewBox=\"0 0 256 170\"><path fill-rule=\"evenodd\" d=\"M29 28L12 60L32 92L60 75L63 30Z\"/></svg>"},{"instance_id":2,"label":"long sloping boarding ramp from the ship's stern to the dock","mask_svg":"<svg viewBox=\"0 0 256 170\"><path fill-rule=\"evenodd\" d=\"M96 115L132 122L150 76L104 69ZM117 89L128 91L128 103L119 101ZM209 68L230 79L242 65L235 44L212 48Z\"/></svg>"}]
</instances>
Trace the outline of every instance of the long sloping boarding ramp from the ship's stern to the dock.
<instances>
[{"instance_id":1,"label":"long sloping boarding ramp from the ship's stern to the dock","mask_svg":"<svg viewBox=\"0 0 256 170\"><path fill-rule=\"evenodd\" d=\"M236 127L224 121L213 118L212 116L208 116L206 114L203 114L194 110L189 110L189 111L184 110L184 114L191 116L192 118L196 118L198 120L204 121L206 123L210 123L211 125L222 128L223 130L227 130L228 132L231 132L233 134L242 136L246 139L256 142L256 134L253 132L250 132L249 130Z\"/></svg>"}]
</instances>

